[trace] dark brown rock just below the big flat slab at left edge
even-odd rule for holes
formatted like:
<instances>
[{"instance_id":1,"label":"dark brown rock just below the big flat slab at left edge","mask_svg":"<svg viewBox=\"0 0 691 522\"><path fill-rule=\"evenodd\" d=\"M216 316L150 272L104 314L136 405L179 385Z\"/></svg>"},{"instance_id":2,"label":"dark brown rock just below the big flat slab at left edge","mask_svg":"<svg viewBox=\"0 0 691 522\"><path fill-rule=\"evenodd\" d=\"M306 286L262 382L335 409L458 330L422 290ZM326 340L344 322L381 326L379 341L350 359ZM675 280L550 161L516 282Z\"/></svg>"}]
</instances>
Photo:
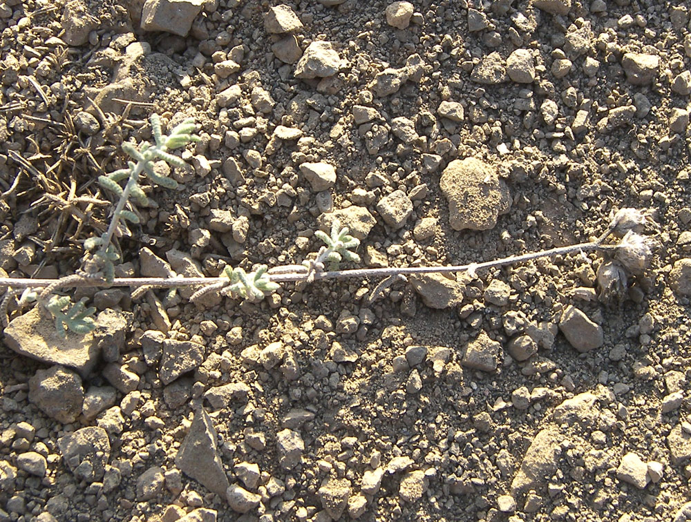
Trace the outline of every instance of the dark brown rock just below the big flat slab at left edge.
<instances>
[{"instance_id":1,"label":"dark brown rock just below the big flat slab at left edge","mask_svg":"<svg viewBox=\"0 0 691 522\"><path fill-rule=\"evenodd\" d=\"M29 401L56 421L73 423L82 413L82 380L74 371L59 365L39 369L29 379Z\"/></svg>"}]
</instances>

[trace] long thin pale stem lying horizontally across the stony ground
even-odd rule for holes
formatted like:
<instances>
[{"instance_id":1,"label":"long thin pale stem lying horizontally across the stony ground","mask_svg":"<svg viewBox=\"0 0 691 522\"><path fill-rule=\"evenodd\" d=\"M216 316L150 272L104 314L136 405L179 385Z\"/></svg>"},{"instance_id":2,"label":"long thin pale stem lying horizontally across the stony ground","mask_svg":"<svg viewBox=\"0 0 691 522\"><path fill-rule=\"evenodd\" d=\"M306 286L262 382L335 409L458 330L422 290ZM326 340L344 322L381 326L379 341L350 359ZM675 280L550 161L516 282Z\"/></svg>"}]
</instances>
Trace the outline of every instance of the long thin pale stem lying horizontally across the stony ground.
<instances>
[{"instance_id":1,"label":"long thin pale stem lying horizontally across the stony ground","mask_svg":"<svg viewBox=\"0 0 691 522\"><path fill-rule=\"evenodd\" d=\"M549 250L541 250L538 252L531 252L522 255L511 255L508 258L501 258L493 261L485 261L482 263L471 264L457 264L446 267L387 267L375 269L351 269L351 270L335 270L328 272L317 272L314 274L314 279L337 279L337 278L384 278L388 276L415 275L423 273L453 273L476 271L480 269L504 267L508 264L522 263L539 258L549 258L555 255L566 255L574 252L588 252L588 251L603 251L613 248L613 245L601 244L599 241L592 241L587 243L573 244L568 247L557 247ZM294 273L267 273L267 277L276 282L289 281L305 281L307 280L307 272ZM46 287L49 284L55 284L55 279L21 279L21 278L0 278L0 287L12 288L35 288ZM227 278L115 278L111 283L111 287L187 287L195 285L218 284L226 282ZM108 286L101 280L84 279L80 281L70 280L66 282L66 287L106 287Z\"/></svg>"}]
</instances>

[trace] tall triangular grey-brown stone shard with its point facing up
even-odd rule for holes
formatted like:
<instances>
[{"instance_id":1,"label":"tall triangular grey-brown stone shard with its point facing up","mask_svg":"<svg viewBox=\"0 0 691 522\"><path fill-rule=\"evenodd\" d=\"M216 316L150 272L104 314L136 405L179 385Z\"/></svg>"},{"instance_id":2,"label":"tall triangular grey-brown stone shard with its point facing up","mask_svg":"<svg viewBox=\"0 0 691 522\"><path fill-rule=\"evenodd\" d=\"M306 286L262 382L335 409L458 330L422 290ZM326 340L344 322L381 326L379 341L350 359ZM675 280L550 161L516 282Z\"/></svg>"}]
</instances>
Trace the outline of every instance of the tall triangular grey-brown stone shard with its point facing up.
<instances>
[{"instance_id":1,"label":"tall triangular grey-brown stone shard with its point facing up","mask_svg":"<svg viewBox=\"0 0 691 522\"><path fill-rule=\"evenodd\" d=\"M203 409L194 414L189 432L175 457L175 465L207 490L225 498L228 477L218 456L216 429Z\"/></svg>"}]
</instances>

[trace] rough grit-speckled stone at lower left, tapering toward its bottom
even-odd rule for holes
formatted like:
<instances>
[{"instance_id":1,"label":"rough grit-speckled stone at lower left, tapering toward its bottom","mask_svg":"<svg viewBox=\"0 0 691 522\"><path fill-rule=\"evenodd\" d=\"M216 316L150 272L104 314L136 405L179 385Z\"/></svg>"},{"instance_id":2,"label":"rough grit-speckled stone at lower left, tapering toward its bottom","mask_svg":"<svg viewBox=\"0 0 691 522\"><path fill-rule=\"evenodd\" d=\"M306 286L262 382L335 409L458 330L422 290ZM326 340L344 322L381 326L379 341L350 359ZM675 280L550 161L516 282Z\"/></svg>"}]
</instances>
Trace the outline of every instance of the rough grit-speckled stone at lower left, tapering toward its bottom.
<instances>
[{"instance_id":1,"label":"rough grit-speckled stone at lower left, tapering toward its bottom","mask_svg":"<svg viewBox=\"0 0 691 522\"><path fill-rule=\"evenodd\" d=\"M65 464L79 480L100 481L111 458L111 441L102 427L85 427L61 437L57 446Z\"/></svg>"}]
</instances>

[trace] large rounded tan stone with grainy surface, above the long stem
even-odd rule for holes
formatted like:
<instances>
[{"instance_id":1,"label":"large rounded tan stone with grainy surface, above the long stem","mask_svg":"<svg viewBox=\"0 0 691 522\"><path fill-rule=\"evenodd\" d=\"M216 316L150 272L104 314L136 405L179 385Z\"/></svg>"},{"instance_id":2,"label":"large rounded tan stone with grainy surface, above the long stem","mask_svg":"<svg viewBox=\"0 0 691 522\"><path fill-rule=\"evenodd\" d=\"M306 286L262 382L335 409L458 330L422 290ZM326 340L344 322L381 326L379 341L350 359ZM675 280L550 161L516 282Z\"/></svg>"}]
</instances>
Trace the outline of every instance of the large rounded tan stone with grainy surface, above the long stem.
<instances>
[{"instance_id":1,"label":"large rounded tan stone with grainy surface, above the long stem","mask_svg":"<svg viewBox=\"0 0 691 522\"><path fill-rule=\"evenodd\" d=\"M474 157L449 163L439 187L448 200L454 230L492 229L498 216L511 209L511 194L495 168Z\"/></svg>"}]
</instances>

